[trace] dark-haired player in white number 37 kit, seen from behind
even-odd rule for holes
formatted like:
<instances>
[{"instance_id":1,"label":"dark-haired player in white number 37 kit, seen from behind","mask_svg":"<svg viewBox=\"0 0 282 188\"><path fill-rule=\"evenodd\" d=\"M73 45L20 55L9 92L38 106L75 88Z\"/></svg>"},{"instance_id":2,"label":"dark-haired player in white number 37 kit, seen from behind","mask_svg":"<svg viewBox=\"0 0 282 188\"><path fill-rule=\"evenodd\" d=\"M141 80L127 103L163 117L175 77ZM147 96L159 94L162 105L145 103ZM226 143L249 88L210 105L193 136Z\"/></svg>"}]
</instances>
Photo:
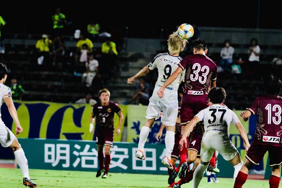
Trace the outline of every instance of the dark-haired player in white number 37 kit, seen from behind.
<instances>
[{"instance_id":1,"label":"dark-haired player in white number 37 kit, seen from behind","mask_svg":"<svg viewBox=\"0 0 282 188\"><path fill-rule=\"evenodd\" d=\"M250 147L246 131L237 115L226 106L222 106L225 97L226 93L223 88L212 88L208 93L211 106L201 110L197 115L195 115L188 124L182 139L179 141L180 146L186 144L187 141L184 138L190 135L190 132L199 121L204 121L205 133L201 143L201 163L195 169L193 175L193 188L197 188L199 186L204 171L207 169L209 161L215 150L217 150L225 160L233 165L235 169L233 176L234 180L237 177L237 174L243 166L243 161L241 160L237 148L229 140L230 123L238 129L246 145L246 151L248 151ZM180 185L176 187L180 187Z\"/></svg>"}]
</instances>

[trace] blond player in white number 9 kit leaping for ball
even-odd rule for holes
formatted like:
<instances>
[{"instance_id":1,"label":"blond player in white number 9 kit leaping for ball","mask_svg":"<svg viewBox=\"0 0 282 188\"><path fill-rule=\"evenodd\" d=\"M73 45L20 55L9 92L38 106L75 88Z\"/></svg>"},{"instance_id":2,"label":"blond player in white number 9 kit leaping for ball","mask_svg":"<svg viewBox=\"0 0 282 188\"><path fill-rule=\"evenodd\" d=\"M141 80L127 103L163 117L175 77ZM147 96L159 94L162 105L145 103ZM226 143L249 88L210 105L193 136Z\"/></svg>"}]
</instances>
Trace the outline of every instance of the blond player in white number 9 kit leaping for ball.
<instances>
[{"instance_id":1,"label":"blond player in white number 9 kit leaping for ball","mask_svg":"<svg viewBox=\"0 0 282 188\"><path fill-rule=\"evenodd\" d=\"M175 132L175 122L178 113L178 100L177 100L177 89L181 82L182 73L179 74L177 79L172 82L165 89L165 97L159 98L157 95L158 89L166 82L171 73L173 73L178 68L178 63L182 60L179 57L179 52L182 52L186 46L187 40L181 39L177 32L169 35L168 38L168 53L158 54L153 61L151 61L147 66L142 68L136 75L130 77L127 82L132 84L136 78L148 74L154 68L158 69L158 80L155 84L155 89L153 91L152 97L149 99L149 105L147 108L146 121L144 126L140 131L140 138L138 143L138 150L136 152L136 157L144 160L144 145L149 135L150 128L152 127L155 119L159 118L160 111L162 111L161 122L166 126L166 156L162 160L162 163L168 168L172 169L173 165L171 162L171 152L174 146L174 132Z\"/></svg>"}]
</instances>

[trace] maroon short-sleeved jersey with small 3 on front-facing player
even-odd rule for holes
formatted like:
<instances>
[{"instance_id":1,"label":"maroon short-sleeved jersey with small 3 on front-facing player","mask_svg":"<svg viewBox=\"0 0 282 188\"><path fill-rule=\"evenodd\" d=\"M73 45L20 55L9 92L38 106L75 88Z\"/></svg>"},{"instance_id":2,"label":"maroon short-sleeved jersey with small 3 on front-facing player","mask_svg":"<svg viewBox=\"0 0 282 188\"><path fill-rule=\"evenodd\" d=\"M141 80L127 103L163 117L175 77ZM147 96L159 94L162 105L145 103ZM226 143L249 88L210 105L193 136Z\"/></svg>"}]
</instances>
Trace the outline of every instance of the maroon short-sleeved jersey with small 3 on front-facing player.
<instances>
[{"instance_id":1,"label":"maroon short-sleeved jersey with small 3 on front-facing player","mask_svg":"<svg viewBox=\"0 0 282 188\"><path fill-rule=\"evenodd\" d=\"M92 115L96 117L97 130L103 129L114 130L114 113L121 113L118 104L109 101L107 106L96 103L92 107Z\"/></svg>"}]
</instances>

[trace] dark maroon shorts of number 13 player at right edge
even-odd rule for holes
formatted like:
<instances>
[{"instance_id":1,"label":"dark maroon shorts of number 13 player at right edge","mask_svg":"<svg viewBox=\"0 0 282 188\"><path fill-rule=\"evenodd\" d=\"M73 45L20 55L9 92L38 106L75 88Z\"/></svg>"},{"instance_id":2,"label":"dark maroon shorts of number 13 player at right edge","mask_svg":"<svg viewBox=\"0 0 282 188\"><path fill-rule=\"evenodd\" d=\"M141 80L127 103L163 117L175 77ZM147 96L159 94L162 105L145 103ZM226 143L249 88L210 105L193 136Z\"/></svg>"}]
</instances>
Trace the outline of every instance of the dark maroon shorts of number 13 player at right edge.
<instances>
[{"instance_id":1,"label":"dark maroon shorts of number 13 player at right edge","mask_svg":"<svg viewBox=\"0 0 282 188\"><path fill-rule=\"evenodd\" d=\"M252 143L246 158L253 164L259 165L266 151L268 151L270 167L282 164L282 147L262 145L257 142Z\"/></svg>"}]
</instances>

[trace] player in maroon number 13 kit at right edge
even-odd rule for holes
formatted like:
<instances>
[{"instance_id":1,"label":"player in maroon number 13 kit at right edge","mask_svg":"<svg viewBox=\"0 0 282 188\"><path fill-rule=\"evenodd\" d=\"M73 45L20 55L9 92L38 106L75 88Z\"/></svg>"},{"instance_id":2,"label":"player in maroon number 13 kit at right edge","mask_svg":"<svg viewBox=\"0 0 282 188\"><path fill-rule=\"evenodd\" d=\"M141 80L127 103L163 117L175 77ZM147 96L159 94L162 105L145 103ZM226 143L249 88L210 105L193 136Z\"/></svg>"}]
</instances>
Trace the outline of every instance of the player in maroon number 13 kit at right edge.
<instances>
[{"instance_id":1,"label":"player in maroon number 13 kit at right edge","mask_svg":"<svg viewBox=\"0 0 282 188\"><path fill-rule=\"evenodd\" d=\"M266 151L269 155L269 167L272 168L269 187L278 188L279 186L282 164L282 98L279 96L281 88L281 80L270 75L265 79L266 95L257 97L252 106L240 114L244 121L247 121L251 115L257 114L257 127L254 141L237 175L234 188L243 186L249 170L254 164L259 165Z\"/></svg>"}]
</instances>

